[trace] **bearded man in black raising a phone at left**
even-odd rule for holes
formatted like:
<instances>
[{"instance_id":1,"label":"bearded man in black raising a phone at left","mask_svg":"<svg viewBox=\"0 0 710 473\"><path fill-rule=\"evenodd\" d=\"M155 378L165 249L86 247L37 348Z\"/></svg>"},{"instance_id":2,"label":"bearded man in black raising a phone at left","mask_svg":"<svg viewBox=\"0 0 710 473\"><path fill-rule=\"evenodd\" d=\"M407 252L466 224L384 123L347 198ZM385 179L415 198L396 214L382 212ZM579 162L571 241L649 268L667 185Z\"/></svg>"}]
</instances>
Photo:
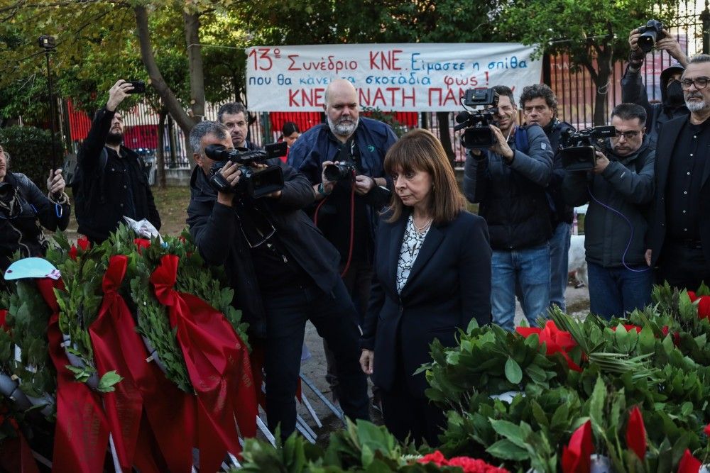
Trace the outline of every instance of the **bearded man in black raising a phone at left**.
<instances>
[{"instance_id":1,"label":"bearded man in black raising a phone at left","mask_svg":"<svg viewBox=\"0 0 710 473\"><path fill-rule=\"evenodd\" d=\"M121 144L124 118L116 108L132 90L131 83L124 79L109 89L109 100L94 117L77 155L73 191L78 231L92 243L109 238L124 216L136 221L147 218L160 230L146 164L136 152Z\"/></svg>"}]
</instances>

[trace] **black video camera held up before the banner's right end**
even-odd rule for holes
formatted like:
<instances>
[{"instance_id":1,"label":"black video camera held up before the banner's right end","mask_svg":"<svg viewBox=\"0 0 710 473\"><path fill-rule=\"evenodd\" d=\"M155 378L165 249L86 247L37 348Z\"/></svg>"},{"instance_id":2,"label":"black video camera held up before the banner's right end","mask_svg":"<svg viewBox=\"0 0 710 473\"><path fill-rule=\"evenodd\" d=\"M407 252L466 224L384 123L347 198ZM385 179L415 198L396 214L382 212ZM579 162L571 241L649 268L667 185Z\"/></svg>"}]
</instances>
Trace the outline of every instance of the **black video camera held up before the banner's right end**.
<instances>
[{"instance_id":1,"label":"black video camera held up before the banner's right end","mask_svg":"<svg viewBox=\"0 0 710 473\"><path fill-rule=\"evenodd\" d=\"M498 94L493 89L468 89L464 105L470 107L491 105L483 110L464 110L456 116L454 131L464 130L461 146L464 148L490 148L496 144L496 135L488 125L495 124L493 116L498 113Z\"/></svg>"}]
</instances>

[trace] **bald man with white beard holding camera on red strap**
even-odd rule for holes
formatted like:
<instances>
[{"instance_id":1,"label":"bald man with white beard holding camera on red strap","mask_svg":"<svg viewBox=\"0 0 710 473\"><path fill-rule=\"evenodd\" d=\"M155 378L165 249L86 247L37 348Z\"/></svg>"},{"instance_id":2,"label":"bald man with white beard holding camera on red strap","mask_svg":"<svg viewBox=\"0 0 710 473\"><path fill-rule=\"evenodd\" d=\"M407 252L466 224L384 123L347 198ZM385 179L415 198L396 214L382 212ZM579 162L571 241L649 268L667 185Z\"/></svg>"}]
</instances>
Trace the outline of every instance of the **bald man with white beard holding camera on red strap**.
<instances>
[{"instance_id":1,"label":"bald man with white beard holding camera on red strap","mask_svg":"<svg viewBox=\"0 0 710 473\"><path fill-rule=\"evenodd\" d=\"M324 110L327 124L303 133L288 163L313 186L318 227L340 252L340 272L362 326L373 274L374 229L378 211L388 202L386 189L392 188L383 162L397 136L386 123L359 116L357 91L344 79L328 85ZM342 179L329 180L324 169L335 163L349 170ZM326 355L327 379L334 389L334 360L327 347Z\"/></svg>"}]
</instances>

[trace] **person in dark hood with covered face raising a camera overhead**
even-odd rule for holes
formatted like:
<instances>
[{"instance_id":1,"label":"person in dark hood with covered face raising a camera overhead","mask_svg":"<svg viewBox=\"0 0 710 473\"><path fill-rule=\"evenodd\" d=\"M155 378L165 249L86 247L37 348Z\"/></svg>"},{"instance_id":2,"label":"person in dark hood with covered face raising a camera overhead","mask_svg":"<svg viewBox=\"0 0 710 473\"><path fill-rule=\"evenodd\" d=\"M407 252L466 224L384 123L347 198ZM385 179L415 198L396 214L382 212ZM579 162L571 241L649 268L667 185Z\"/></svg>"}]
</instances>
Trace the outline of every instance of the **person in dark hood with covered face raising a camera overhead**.
<instances>
[{"instance_id":1,"label":"person in dark hood with covered face raising a camera overhead","mask_svg":"<svg viewBox=\"0 0 710 473\"><path fill-rule=\"evenodd\" d=\"M649 23L652 23L649 22ZM621 101L625 104L638 104L646 111L646 130L650 145L655 148L658 139L658 129L665 123L679 116L687 116L689 113L683 99L683 91L680 88L680 76L683 68L688 64L688 58L680 48L678 41L666 30L661 29L658 36L661 38L655 42L656 50L667 51L677 63L666 67L661 72L660 88L661 103L650 104L648 94L641 79L641 67L646 53L639 48L638 39L640 30L645 28L635 28L628 35L628 44L631 53L626 66L626 72L621 77Z\"/></svg>"}]
</instances>

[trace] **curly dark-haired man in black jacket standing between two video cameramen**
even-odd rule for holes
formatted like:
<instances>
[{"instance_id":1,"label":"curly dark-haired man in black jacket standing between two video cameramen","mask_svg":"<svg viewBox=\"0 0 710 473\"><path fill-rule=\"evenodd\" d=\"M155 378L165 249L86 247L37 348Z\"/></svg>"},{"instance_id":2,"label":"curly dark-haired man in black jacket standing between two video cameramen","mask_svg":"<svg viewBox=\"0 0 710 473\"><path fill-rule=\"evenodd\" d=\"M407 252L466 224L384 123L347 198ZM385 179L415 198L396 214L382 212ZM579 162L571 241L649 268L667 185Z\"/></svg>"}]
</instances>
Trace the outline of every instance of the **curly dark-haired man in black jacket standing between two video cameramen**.
<instances>
[{"instance_id":1,"label":"curly dark-haired man in black jacket standing between two video cameramen","mask_svg":"<svg viewBox=\"0 0 710 473\"><path fill-rule=\"evenodd\" d=\"M552 164L550 184L547 184L547 201L550 204L552 218L552 238L550 238L550 306L557 305L566 311L564 291L567 290L567 265L569 260L569 240L574 213L572 207L564 202L562 179L564 168L559 156L559 141L562 133L574 131L566 121L557 119L557 97L546 84L533 84L523 89L520 94L520 106L523 107L525 124L542 126L555 153Z\"/></svg>"}]
</instances>

